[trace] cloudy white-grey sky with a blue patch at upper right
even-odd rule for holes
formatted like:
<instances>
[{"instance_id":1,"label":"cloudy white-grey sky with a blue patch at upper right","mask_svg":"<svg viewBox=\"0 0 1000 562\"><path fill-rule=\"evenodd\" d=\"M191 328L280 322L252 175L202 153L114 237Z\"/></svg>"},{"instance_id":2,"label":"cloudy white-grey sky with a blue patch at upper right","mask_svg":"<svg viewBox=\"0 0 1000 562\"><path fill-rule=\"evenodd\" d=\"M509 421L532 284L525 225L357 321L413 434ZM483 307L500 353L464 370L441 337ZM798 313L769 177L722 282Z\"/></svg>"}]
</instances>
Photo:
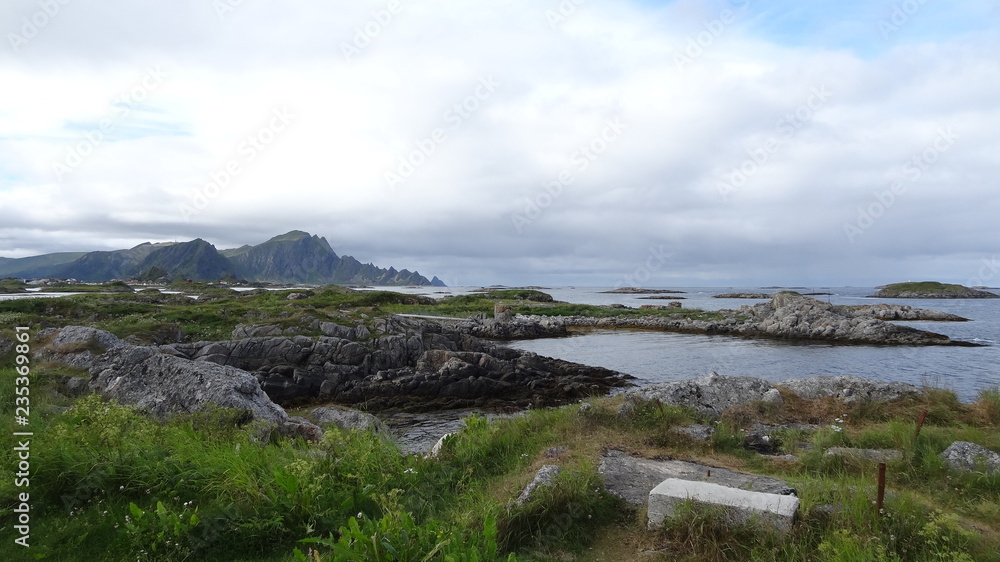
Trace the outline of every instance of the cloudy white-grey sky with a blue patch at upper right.
<instances>
[{"instance_id":1,"label":"cloudy white-grey sky with a blue patch at upper right","mask_svg":"<svg viewBox=\"0 0 1000 562\"><path fill-rule=\"evenodd\" d=\"M0 257L1000 285L997 0L8 0Z\"/></svg>"}]
</instances>

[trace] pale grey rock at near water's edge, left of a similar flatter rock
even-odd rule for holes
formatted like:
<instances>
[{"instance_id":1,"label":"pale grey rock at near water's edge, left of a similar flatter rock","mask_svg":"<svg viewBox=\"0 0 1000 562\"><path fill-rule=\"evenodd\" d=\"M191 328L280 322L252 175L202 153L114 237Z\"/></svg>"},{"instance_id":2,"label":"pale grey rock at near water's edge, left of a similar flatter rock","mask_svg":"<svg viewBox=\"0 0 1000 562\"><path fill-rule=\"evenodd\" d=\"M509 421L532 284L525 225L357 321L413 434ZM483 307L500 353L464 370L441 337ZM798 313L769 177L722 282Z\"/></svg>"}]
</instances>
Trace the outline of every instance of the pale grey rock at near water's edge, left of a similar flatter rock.
<instances>
[{"instance_id":1,"label":"pale grey rock at near water's edge, left of a similar flatter rock","mask_svg":"<svg viewBox=\"0 0 1000 562\"><path fill-rule=\"evenodd\" d=\"M722 412L733 406L756 401L773 401L774 394L769 394L772 390L777 392L763 379L723 377L712 372L696 379L666 382L630 390L625 395L633 399L659 400L664 404L687 406L699 414L718 418Z\"/></svg>"}]
</instances>

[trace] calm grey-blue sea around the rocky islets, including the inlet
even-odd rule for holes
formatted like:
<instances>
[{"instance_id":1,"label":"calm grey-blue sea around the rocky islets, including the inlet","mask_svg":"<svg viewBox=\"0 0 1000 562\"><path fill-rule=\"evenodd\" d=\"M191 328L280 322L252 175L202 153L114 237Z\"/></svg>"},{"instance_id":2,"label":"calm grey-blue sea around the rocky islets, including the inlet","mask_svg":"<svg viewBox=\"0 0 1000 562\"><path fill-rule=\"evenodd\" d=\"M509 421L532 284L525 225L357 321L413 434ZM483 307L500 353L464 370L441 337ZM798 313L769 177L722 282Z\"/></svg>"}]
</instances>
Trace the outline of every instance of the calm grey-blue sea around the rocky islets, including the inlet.
<instances>
[{"instance_id":1,"label":"calm grey-blue sea around the rocky islets, including the inlet","mask_svg":"<svg viewBox=\"0 0 1000 562\"><path fill-rule=\"evenodd\" d=\"M373 288L374 289L374 288ZM378 287L434 298L468 294L480 287ZM723 293L774 293L786 288L650 287L679 291L668 300L644 300L646 295L612 294L611 287L538 287L559 301L580 304L664 304L676 299L684 308L718 310L753 305L764 300L719 299ZM636 330L593 330L564 338L510 342L516 349L605 367L635 377L645 386L690 379L717 372L768 381L814 375L854 375L885 381L953 390L963 401L974 401L983 389L1000 387L1000 299L873 299L874 287L789 287L833 304L906 304L957 314L969 322L901 322L944 334L980 347L833 345L786 342L722 335L674 334ZM996 292L996 291L994 291ZM31 298L24 295L17 298ZM42 296L42 295L37 295ZM0 299L10 296L0 295Z\"/></svg>"}]
</instances>

